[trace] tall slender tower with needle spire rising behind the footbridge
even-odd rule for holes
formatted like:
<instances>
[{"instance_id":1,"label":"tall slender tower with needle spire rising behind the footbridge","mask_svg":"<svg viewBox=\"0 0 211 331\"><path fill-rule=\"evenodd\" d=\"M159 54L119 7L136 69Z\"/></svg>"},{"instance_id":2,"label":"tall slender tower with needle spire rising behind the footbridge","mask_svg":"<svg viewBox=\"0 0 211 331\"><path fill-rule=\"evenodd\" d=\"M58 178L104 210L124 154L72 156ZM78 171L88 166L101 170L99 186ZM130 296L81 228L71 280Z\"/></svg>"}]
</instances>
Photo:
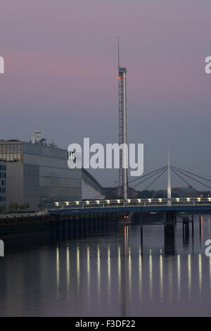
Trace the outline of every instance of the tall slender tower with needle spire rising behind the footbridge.
<instances>
[{"instance_id":1,"label":"tall slender tower with needle spire rising behind the footbridge","mask_svg":"<svg viewBox=\"0 0 211 331\"><path fill-rule=\"evenodd\" d=\"M127 68L120 66L120 37L118 37L118 95L119 95L119 144L120 149L120 172L118 196L128 198L127 177Z\"/></svg>"}]
</instances>

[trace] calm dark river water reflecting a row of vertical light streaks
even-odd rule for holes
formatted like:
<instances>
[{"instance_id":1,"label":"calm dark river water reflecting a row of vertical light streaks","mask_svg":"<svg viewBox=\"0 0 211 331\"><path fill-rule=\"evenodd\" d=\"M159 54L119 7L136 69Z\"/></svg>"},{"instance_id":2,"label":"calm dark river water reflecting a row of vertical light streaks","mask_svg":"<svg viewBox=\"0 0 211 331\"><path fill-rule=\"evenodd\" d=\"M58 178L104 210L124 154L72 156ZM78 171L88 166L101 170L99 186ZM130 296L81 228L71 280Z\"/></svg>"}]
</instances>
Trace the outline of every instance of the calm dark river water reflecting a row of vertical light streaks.
<instances>
[{"instance_id":1,"label":"calm dark river water reflecting a row of vertical light streaks","mask_svg":"<svg viewBox=\"0 0 211 331\"><path fill-rule=\"evenodd\" d=\"M4 238L0 316L211 316L210 216L189 241L177 223L174 254L163 225L111 227L80 237ZM1 238L3 239L3 238Z\"/></svg>"}]
</instances>

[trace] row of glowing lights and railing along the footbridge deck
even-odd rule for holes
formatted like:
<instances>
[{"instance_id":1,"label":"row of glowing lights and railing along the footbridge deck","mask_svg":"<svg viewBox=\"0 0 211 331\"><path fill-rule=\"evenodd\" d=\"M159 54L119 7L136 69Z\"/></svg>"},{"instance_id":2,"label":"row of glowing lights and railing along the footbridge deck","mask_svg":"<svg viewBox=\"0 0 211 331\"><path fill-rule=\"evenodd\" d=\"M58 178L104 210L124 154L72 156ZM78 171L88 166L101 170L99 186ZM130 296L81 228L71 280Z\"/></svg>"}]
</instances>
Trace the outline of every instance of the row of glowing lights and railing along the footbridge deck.
<instances>
[{"instance_id":1,"label":"row of glowing lights and railing along the footbridge deck","mask_svg":"<svg viewBox=\"0 0 211 331\"><path fill-rule=\"evenodd\" d=\"M167 205L211 205L211 197L207 198L172 198L172 199L104 199L104 200L82 200L82 201L57 201L51 208L79 209L79 208L110 208L126 206L167 206Z\"/></svg>"}]
</instances>

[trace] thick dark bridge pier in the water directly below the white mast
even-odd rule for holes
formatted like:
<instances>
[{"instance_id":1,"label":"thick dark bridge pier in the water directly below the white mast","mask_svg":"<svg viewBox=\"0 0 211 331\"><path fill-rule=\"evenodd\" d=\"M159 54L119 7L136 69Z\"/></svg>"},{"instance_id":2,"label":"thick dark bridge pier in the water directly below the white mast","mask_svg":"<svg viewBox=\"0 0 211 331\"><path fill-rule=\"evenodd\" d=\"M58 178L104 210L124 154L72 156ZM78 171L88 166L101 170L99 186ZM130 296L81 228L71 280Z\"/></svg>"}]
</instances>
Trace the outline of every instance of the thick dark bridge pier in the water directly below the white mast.
<instances>
[{"instance_id":1,"label":"thick dark bridge pier in the water directly below the white mast","mask_svg":"<svg viewBox=\"0 0 211 331\"><path fill-rule=\"evenodd\" d=\"M175 254L175 213L166 212L164 214L164 240L165 240L165 254Z\"/></svg>"}]
</instances>

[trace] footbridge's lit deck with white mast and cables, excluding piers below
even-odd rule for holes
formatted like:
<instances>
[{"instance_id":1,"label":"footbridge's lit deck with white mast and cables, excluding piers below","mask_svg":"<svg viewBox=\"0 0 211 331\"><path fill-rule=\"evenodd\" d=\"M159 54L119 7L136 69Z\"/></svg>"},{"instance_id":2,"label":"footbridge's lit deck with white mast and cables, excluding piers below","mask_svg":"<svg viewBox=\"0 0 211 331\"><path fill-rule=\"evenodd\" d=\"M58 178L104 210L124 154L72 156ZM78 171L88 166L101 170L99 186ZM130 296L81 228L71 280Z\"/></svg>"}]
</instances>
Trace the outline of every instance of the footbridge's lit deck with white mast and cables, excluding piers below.
<instances>
[{"instance_id":1,"label":"footbridge's lit deck with white mast and cables, excluding piers below","mask_svg":"<svg viewBox=\"0 0 211 331\"><path fill-rule=\"evenodd\" d=\"M49 214L96 214L96 213L129 213L129 218L134 216L134 213L196 213L211 211L211 194L207 197L186 197L172 198L171 177L170 173L174 173L180 180L183 180L186 185L193 187L189 180L193 180L203 187L211 189L211 180L195 175L189 171L170 165L170 152L168 152L168 164L146 173L141 177L137 177L130 181L130 185L142 185L143 182L153 181L145 187L147 189L153 185L165 172L167 172L167 199L107 199L107 200L87 200L87 201L65 201L55 202L54 208L49 209ZM202 182L203 180L203 182ZM209 184L209 185L207 185ZM133 188L134 188L133 187Z\"/></svg>"}]
</instances>

